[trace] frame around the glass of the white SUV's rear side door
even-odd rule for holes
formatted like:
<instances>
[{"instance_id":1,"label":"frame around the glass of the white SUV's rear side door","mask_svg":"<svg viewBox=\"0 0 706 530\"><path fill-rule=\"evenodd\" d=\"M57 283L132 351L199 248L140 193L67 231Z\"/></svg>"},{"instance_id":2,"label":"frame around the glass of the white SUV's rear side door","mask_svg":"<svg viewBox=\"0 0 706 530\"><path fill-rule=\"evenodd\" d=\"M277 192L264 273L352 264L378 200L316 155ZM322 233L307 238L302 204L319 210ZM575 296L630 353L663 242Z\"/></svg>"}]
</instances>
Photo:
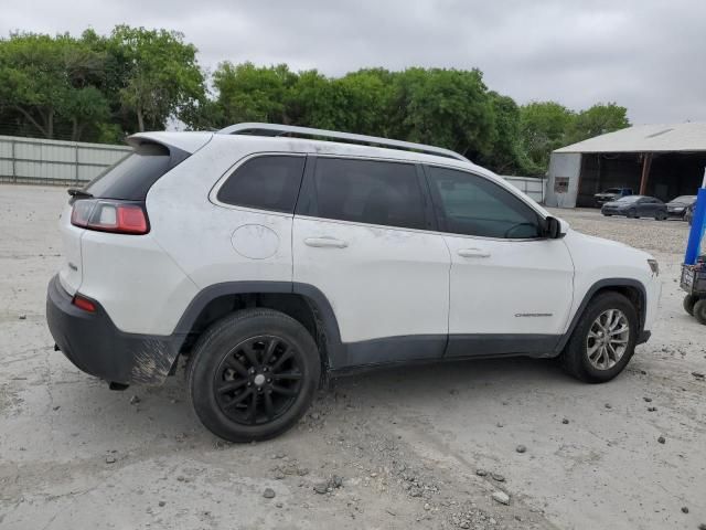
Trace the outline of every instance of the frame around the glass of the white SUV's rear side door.
<instances>
[{"instance_id":1,"label":"frame around the glass of the white SUV's rear side door","mask_svg":"<svg viewBox=\"0 0 706 530\"><path fill-rule=\"evenodd\" d=\"M387 162L387 163L406 163L415 167L415 171L417 173L417 184L419 187L419 193L421 195L421 200L424 202L424 222L426 227L424 229L413 229L406 226L393 226L389 224L373 224L373 223L362 223L359 221L347 221L343 219L330 219L330 218L321 218L313 212L318 212L318 197L315 192L314 184L314 171L317 166L317 160L319 158L335 158L340 160L361 160L361 161L374 161L374 162ZM434 203L431 201L431 192L429 190L429 183L427 182L427 178L424 173L422 165L415 160L404 160L397 158L382 158L382 157L365 157L365 156L353 156L353 155L309 155L307 161L307 168L304 169L304 178L299 191L299 198L297 200L297 206L295 208L295 215L298 218L307 218L314 219L317 221L324 221L330 223L339 223L339 224L347 224L354 226L376 226L384 230L398 230L404 232L421 232L428 234L438 233L438 224L436 215L434 214ZM309 201L309 203L307 203ZM311 209L311 210L310 210Z\"/></svg>"}]
</instances>

